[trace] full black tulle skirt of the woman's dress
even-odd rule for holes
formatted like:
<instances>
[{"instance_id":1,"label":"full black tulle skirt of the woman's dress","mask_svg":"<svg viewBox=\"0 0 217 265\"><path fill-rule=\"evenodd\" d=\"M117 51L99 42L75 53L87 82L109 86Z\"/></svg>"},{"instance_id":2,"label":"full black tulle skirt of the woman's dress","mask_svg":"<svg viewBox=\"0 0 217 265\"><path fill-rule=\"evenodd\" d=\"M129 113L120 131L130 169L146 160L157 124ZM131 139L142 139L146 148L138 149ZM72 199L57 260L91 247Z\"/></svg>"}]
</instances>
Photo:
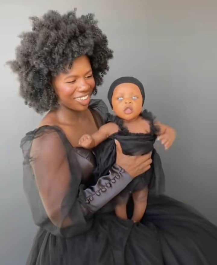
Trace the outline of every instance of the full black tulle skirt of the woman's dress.
<instances>
[{"instance_id":1,"label":"full black tulle skirt of the woman's dress","mask_svg":"<svg viewBox=\"0 0 217 265\"><path fill-rule=\"evenodd\" d=\"M27 260L27 265L107 264L216 265L217 227L184 203L150 196L140 223L111 212L96 213L91 229L71 238L40 228Z\"/></svg>"}]
</instances>

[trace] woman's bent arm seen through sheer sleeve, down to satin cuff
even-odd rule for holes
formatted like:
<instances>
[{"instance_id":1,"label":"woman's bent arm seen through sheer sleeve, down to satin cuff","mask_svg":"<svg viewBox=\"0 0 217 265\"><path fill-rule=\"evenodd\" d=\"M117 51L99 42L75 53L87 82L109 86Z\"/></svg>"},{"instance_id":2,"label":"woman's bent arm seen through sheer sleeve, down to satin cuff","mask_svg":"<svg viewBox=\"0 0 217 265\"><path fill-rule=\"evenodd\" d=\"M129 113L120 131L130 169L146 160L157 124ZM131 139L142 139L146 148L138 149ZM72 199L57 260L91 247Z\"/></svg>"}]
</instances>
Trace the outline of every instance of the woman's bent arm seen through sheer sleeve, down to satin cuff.
<instances>
[{"instance_id":1,"label":"woman's bent arm seen through sheer sleeve, down to satin cuff","mask_svg":"<svg viewBox=\"0 0 217 265\"><path fill-rule=\"evenodd\" d=\"M69 164L62 139L56 132L34 139L30 156L40 200L48 218L58 228L85 223L133 179L115 164L96 185L83 189L76 155L71 152L72 164ZM29 197L34 195L31 190L26 191Z\"/></svg>"}]
</instances>

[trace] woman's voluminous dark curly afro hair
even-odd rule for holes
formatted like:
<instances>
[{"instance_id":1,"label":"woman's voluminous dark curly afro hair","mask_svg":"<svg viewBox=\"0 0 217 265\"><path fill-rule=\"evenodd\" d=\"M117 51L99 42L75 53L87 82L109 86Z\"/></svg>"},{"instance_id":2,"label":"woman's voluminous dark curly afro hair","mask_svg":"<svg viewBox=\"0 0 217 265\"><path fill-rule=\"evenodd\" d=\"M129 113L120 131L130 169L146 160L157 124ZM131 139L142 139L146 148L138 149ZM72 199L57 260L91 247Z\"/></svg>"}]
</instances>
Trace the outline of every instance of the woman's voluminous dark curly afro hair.
<instances>
[{"instance_id":1,"label":"woman's voluminous dark curly afro hair","mask_svg":"<svg viewBox=\"0 0 217 265\"><path fill-rule=\"evenodd\" d=\"M77 17L75 8L64 15L50 10L42 18L30 19L32 31L19 36L16 59L7 62L18 74L20 95L26 105L38 113L57 107L51 78L66 72L66 65L71 68L73 60L81 55L90 58L96 86L102 84L113 51L108 48L107 37L97 26L94 14ZM95 88L93 94L96 93Z\"/></svg>"}]
</instances>

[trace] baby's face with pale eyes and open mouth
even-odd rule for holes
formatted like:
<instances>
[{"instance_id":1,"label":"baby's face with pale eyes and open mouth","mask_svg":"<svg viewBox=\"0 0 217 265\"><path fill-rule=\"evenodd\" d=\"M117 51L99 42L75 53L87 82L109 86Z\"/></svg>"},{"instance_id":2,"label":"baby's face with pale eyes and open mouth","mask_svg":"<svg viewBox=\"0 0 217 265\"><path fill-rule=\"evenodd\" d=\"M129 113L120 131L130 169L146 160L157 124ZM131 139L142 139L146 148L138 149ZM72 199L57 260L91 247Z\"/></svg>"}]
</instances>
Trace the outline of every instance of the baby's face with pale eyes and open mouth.
<instances>
[{"instance_id":1,"label":"baby's face with pale eyes and open mouth","mask_svg":"<svg viewBox=\"0 0 217 265\"><path fill-rule=\"evenodd\" d=\"M135 84L118 85L112 95L112 107L115 114L126 121L135 120L142 112L143 98Z\"/></svg>"}]
</instances>

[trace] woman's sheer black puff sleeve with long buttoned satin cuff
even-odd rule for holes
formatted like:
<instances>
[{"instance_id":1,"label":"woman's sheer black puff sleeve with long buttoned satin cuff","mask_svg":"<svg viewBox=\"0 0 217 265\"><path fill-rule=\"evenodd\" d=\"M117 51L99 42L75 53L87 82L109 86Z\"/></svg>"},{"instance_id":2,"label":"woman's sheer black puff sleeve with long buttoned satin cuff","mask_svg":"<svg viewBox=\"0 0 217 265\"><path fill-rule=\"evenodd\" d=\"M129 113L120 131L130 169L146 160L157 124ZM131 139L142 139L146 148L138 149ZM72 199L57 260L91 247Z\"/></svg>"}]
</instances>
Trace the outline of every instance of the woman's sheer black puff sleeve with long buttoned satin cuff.
<instances>
[{"instance_id":1,"label":"woman's sheer black puff sleeve with long buttoned satin cuff","mask_svg":"<svg viewBox=\"0 0 217 265\"><path fill-rule=\"evenodd\" d=\"M114 165L95 186L85 189L74 148L57 129L29 133L21 147L24 191L34 222L55 235L69 237L88 230L93 213L132 180Z\"/></svg>"}]
</instances>

